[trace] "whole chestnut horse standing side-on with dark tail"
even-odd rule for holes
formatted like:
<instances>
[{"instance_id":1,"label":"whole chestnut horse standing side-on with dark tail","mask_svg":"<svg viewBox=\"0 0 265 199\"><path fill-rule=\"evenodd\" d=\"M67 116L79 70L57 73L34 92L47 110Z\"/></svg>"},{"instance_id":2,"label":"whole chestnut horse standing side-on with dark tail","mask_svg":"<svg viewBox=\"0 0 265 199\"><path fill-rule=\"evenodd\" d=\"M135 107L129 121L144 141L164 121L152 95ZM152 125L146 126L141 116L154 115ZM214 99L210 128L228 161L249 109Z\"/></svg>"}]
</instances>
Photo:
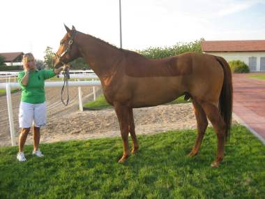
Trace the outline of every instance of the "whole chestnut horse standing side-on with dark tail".
<instances>
[{"instance_id":1,"label":"whole chestnut horse standing side-on with dark tail","mask_svg":"<svg viewBox=\"0 0 265 199\"><path fill-rule=\"evenodd\" d=\"M76 31L75 27L66 27L66 31L54 57L54 67L83 57L98 75L104 96L114 106L119 119L123 140L119 163L130 155L128 133L132 138L132 153L139 149L132 108L160 105L185 95L185 99L192 99L198 131L189 156L199 152L208 117L218 139L217 156L211 165L218 167L232 123L232 74L225 59L192 52L146 59Z\"/></svg>"}]
</instances>

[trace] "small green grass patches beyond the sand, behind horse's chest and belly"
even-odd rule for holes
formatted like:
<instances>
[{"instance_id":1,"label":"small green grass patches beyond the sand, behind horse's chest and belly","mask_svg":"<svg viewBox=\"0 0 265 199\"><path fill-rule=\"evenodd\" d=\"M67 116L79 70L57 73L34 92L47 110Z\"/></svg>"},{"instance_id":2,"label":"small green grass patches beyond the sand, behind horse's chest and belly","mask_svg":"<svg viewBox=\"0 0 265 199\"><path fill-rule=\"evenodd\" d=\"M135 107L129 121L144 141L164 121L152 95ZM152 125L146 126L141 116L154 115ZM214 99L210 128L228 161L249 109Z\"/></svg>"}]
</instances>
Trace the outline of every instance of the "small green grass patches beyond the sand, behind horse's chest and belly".
<instances>
[{"instance_id":1,"label":"small green grass patches beyond the sand, behind horse's chest and belly","mask_svg":"<svg viewBox=\"0 0 265 199\"><path fill-rule=\"evenodd\" d=\"M176 100L167 103L167 104L176 104L176 103L190 103L190 101L185 101L184 96L177 98ZM105 100L103 95L100 95L96 101L90 101L88 103L84 103L84 110L102 110L105 108L112 108L109 103Z\"/></svg>"}]
</instances>

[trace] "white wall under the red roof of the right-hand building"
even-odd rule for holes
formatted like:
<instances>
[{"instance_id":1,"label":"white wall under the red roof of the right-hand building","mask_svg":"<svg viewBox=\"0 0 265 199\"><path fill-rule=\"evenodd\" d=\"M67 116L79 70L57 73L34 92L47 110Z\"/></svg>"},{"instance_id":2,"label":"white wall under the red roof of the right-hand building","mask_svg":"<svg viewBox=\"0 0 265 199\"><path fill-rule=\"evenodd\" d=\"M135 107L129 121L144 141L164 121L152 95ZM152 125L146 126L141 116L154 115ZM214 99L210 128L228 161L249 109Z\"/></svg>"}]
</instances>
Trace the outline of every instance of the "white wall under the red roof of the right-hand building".
<instances>
[{"instance_id":1,"label":"white wall under the red roof of the right-hand building","mask_svg":"<svg viewBox=\"0 0 265 199\"><path fill-rule=\"evenodd\" d=\"M249 65L249 57L257 57L257 71L260 70L260 57L265 57L265 52L206 52L207 54L213 54L220 57L224 57L227 61L241 60L245 64Z\"/></svg>"}]
</instances>

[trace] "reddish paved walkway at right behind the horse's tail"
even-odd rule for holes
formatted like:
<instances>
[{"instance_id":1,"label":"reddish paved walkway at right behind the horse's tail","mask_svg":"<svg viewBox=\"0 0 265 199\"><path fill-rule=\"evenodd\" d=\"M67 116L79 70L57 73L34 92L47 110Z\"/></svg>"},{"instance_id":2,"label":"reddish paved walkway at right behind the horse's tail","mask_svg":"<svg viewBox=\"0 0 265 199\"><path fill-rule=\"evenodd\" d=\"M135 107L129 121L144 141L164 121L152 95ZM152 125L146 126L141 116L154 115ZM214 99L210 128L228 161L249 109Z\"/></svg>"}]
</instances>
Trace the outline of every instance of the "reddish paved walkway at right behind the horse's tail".
<instances>
[{"instance_id":1,"label":"reddish paved walkway at right behind the horse's tail","mask_svg":"<svg viewBox=\"0 0 265 199\"><path fill-rule=\"evenodd\" d=\"M233 74L233 112L265 144L265 80L248 78L249 75Z\"/></svg>"}]
</instances>

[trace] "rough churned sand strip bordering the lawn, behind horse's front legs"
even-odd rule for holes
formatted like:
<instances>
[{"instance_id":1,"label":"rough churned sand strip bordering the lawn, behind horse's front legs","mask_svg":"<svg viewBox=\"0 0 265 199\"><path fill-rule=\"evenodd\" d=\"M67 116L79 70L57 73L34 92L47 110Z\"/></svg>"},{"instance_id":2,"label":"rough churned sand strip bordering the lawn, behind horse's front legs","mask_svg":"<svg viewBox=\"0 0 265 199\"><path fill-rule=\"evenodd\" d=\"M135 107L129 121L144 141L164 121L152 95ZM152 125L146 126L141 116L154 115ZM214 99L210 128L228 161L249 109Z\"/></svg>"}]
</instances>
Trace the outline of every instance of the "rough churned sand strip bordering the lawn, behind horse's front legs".
<instances>
[{"instance_id":1,"label":"rough churned sand strip bordering the lawn, behind horse's front legs","mask_svg":"<svg viewBox=\"0 0 265 199\"><path fill-rule=\"evenodd\" d=\"M134 110L134 118L137 135L196 128L191 103L137 108ZM121 134L115 111L108 108L106 110L72 112L61 118L53 118L43 128L41 140L42 142L57 142L119 135Z\"/></svg>"}]
</instances>

